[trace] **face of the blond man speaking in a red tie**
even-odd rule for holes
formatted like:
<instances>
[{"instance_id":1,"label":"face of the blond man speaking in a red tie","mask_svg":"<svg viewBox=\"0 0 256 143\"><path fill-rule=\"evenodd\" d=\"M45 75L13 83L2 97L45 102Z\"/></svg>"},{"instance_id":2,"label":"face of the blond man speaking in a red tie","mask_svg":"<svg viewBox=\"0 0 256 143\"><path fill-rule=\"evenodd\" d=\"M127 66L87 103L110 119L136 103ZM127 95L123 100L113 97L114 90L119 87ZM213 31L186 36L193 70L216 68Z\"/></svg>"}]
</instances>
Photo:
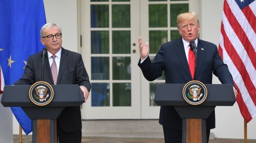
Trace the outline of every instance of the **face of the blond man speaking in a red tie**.
<instances>
[{"instance_id":1,"label":"face of the blond man speaking in a red tie","mask_svg":"<svg viewBox=\"0 0 256 143\"><path fill-rule=\"evenodd\" d=\"M178 30L184 40L191 42L197 39L200 25L195 19L183 20L179 24Z\"/></svg>"}]
</instances>

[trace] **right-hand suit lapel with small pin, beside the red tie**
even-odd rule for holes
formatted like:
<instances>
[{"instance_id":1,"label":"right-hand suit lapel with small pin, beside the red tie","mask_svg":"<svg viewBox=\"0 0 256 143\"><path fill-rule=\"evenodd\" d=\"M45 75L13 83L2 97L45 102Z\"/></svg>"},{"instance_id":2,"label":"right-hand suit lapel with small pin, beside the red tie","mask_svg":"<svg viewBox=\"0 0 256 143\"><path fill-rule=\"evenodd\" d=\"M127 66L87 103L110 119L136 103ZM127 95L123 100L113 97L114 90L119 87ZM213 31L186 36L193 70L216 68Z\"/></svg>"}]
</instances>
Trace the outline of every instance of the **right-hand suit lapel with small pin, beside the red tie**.
<instances>
[{"instance_id":1,"label":"right-hand suit lapel with small pin, beside the red tie","mask_svg":"<svg viewBox=\"0 0 256 143\"><path fill-rule=\"evenodd\" d=\"M197 47L197 71L196 71L196 77L199 76L199 72L202 68L203 61L204 61L204 47L201 42L201 40L198 39L198 47Z\"/></svg>"}]
</instances>

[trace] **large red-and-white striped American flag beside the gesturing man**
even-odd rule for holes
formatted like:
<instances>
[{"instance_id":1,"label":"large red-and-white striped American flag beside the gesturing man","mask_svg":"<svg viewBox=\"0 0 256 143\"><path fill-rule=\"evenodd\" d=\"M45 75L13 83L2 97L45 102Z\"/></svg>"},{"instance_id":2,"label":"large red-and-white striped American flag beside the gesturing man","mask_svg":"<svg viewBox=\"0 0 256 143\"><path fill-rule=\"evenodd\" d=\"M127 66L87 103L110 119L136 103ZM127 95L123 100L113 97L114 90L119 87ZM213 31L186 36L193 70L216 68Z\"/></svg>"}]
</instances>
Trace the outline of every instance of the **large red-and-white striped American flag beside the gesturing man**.
<instances>
[{"instance_id":1,"label":"large red-and-white striped American flag beside the gesturing man","mask_svg":"<svg viewBox=\"0 0 256 143\"><path fill-rule=\"evenodd\" d=\"M225 0L219 53L228 65L246 122L256 117L256 0Z\"/></svg>"}]
</instances>

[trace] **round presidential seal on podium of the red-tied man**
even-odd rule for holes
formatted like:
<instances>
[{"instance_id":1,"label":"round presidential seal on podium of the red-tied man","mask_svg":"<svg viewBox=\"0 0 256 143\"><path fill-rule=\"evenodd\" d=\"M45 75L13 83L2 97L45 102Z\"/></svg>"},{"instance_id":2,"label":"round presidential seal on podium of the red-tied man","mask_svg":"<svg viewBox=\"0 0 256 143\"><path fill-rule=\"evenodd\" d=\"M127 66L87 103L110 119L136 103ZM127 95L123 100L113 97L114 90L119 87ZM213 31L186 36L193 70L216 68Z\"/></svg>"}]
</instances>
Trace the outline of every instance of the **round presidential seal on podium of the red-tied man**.
<instances>
[{"instance_id":1,"label":"round presidential seal on podium of the red-tied man","mask_svg":"<svg viewBox=\"0 0 256 143\"><path fill-rule=\"evenodd\" d=\"M183 97L191 105L199 105L207 97L207 88L199 81L190 81L183 88Z\"/></svg>"}]
</instances>

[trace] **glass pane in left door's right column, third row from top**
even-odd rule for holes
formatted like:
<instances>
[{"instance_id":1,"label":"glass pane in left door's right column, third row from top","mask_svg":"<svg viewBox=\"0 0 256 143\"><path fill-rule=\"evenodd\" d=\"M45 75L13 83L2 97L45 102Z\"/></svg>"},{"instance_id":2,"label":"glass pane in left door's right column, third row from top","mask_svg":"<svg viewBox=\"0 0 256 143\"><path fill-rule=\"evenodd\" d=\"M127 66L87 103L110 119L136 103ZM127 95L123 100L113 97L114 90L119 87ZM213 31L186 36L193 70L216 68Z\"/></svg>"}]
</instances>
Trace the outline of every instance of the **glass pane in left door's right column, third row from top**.
<instances>
[{"instance_id":1,"label":"glass pane in left door's right column, third row from top","mask_svg":"<svg viewBox=\"0 0 256 143\"><path fill-rule=\"evenodd\" d=\"M113 80L130 80L130 57L113 57Z\"/></svg>"}]
</instances>

